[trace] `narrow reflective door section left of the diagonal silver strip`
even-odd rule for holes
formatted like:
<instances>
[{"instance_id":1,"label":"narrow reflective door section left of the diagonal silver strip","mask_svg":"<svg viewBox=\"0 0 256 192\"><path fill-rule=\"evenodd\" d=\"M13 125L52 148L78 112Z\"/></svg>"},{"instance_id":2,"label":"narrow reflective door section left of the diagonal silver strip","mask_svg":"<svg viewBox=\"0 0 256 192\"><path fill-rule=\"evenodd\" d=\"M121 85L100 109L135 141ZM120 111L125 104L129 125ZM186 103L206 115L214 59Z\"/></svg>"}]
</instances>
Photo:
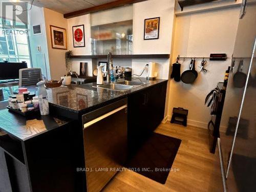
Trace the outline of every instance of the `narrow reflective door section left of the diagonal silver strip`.
<instances>
[{"instance_id":1,"label":"narrow reflective door section left of the diagonal silver strip","mask_svg":"<svg viewBox=\"0 0 256 192\"><path fill-rule=\"evenodd\" d=\"M243 86L237 86L236 81L241 79L241 76L237 76L239 78L236 78L236 75L239 72L242 72L245 76L250 74L249 66L256 36L256 5L255 3L252 3L253 1L255 2L255 0L247 0L246 13L244 17L239 20L221 118L220 139L226 178L228 177L228 163L232 153L232 145L236 133L237 122L239 120L238 117L241 109L242 98L245 91L245 81L242 83ZM242 63L242 68L240 63ZM247 121L246 119L241 119L240 123L247 124Z\"/></svg>"}]
</instances>

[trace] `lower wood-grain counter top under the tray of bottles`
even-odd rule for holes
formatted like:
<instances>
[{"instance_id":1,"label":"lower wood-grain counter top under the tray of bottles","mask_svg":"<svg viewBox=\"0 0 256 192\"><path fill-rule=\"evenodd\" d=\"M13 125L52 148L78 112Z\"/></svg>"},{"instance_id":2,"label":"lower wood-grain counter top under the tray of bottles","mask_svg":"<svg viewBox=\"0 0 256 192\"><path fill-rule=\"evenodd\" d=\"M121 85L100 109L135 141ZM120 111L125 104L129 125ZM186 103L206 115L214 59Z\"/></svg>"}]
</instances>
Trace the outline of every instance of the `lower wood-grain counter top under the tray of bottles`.
<instances>
[{"instance_id":1,"label":"lower wood-grain counter top under the tray of bottles","mask_svg":"<svg viewBox=\"0 0 256 192\"><path fill-rule=\"evenodd\" d=\"M70 121L71 120L60 119L51 115L40 116L40 114L26 118L20 114L9 112L7 109L0 110L0 137L8 133L18 140L25 141L56 129Z\"/></svg>"}]
</instances>

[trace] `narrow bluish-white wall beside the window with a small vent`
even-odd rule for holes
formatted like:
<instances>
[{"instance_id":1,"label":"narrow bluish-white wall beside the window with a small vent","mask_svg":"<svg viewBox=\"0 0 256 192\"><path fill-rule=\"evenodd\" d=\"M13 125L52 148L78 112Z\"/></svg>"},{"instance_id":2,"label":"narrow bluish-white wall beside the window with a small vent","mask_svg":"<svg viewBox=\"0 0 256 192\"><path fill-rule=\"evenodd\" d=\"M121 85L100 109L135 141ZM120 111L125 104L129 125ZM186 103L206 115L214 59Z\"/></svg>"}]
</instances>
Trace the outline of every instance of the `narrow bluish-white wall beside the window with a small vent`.
<instances>
[{"instance_id":1,"label":"narrow bluish-white wall beside the window with a small vent","mask_svg":"<svg viewBox=\"0 0 256 192\"><path fill-rule=\"evenodd\" d=\"M46 78L50 79L51 74L49 66L44 9L33 6L31 11L28 13L29 44L32 65L34 68L41 68L42 74L44 74ZM33 35L34 25L41 25L41 34ZM38 46L41 47L41 51L37 50Z\"/></svg>"}]
</instances>

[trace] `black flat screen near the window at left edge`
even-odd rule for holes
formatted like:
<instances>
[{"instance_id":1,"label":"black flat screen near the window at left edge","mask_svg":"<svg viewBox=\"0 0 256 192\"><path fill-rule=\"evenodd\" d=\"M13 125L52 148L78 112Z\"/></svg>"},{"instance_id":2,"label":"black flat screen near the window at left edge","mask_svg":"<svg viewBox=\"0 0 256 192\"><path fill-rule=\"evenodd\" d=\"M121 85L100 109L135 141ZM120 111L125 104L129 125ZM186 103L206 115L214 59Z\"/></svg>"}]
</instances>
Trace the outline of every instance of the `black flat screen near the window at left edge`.
<instances>
[{"instance_id":1,"label":"black flat screen near the window at left edge","mask_svg":"<svg viewBox=\"0 0 256 192\"><path fill-rule=\"evenodd\" d=\"M0 79L18 79L19 70L25 68L27 62L0 62Z\"/></svg>"}]
</instances>

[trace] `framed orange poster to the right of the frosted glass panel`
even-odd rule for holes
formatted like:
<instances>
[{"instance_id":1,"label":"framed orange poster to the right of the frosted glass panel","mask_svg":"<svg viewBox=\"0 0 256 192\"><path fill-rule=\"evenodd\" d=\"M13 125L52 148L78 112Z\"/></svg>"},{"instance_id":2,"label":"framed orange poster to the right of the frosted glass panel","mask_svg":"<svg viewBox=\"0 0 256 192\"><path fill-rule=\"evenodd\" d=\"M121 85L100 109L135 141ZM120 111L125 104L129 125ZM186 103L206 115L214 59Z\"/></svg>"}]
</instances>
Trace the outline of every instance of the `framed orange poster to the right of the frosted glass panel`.
<instances>
[{"instance_id":1,"label":"framed orange poster to the right of the frosted glass panel","mask_svg":"<svg viewBox=\"0 0 256 192\"><path fill-rule=\"evenodd\" d=\"M160 17L144 20L144 40L159 38L159 23Z\"/></svg>"}]
</instances>

